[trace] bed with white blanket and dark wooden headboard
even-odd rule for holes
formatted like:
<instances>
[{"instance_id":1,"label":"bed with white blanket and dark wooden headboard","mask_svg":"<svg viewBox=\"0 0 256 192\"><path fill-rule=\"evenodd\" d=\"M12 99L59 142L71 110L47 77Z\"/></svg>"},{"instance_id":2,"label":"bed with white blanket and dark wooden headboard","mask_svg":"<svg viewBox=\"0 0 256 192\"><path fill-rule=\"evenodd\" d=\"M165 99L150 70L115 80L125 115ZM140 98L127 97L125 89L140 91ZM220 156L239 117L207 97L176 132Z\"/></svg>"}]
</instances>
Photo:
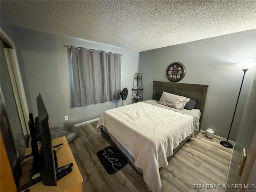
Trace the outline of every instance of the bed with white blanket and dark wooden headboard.
<instances>
[{"instance_id":1,"label":"bed with white blanket and dark wooden headboard","mask_svg":"<svg viewBox=\"0 0 256 192\"><path fill-rule=\"evenodd\" d=\"M159 169L193 135L202 121L207 85L153 83L153 98L163 91L198 100L192 110L180 110L147 100L105 111L97 128L106 132L143 175L152 191L161 190Z\"/></svg>"}]
</instances>

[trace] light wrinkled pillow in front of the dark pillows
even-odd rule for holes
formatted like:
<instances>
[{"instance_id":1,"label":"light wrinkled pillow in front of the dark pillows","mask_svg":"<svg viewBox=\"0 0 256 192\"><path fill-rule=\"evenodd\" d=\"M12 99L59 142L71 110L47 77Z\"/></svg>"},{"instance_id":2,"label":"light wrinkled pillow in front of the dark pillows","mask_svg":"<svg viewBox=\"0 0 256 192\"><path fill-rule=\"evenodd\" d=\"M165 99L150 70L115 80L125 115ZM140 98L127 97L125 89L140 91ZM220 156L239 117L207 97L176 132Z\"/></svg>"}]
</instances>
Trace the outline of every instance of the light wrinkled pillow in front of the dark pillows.
<instances>
[{"instance_id":1,"label":"light wrinkled pillow in front of the dark pillows","mask_svg":"<svg viewBox=\"0 0 256 192\"><path fill-rule=\"evenodd\" d=\"M166 105L172 108L176 108L176 109L184 109L184 106L186 105L187 102L190 101L190 98L186 98L184 96L180 96L180 95L174 95L171 93L166 93L163 92L159 103L162 105Z\"/></svg>"}]
</instances>

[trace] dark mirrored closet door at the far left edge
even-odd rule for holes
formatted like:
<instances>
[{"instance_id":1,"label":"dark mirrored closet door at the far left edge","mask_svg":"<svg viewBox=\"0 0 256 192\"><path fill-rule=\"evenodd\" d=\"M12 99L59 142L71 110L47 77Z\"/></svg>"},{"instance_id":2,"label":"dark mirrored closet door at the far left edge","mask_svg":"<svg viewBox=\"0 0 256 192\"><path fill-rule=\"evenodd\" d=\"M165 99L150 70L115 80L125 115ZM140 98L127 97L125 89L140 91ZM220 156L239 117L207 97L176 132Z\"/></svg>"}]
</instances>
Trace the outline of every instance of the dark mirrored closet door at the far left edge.
<instances>
[{"instance_id":1,"label":"dark mirrored closet door at the far left edge","mask_svg":"<svg viewBox=\"0 0 256 192\"><path fill-rule=\"evenodd\" d=\"M14 98L14 92L12 89L12 84L10 81L10 76L8 73L6 60L4 57L3 51L3 42L1 40L1 64L0 64L0 108L1 108L1 142L3 142L3 146L1 145L1 164L2 160L5 160L5 153L8 157L8 164L6 173L2 172L1 174L6 174L9 176L8 170L11 170L12 176L18 186L21 167L20 162L22 157L24 156L26 143L24 140L24 135L22 131L22 126L20 123L20 116L18 114L16 100ZM2 157L3 154L3 157ZM3 159L2 159L3 158ZM2 168L2 167L1 167ZM4 179L4 181L2 181ZM5 176L1 176L1 183L4 184L8 182ZM2 187L1 184L1 187ZM1 189L2 190L2 189Z\"/></svg>"}]
</instances>

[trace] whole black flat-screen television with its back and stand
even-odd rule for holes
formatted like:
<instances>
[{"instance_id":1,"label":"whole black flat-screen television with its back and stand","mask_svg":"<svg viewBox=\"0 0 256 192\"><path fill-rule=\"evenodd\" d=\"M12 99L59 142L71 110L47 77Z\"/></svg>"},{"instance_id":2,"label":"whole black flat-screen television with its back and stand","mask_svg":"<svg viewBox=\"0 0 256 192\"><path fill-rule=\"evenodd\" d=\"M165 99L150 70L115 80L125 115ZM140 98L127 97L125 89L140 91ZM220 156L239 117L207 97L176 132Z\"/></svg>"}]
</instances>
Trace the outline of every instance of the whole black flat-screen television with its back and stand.
<instances>
[{"instance_id":1,"label":"whole black flat-screen television with its back and stand","mask_svg":"<svg viewBox=\"0 0 256 192\"><path fill-rule=\"evenodd\" d=\"M20 186L19 191L42 181L45 186L57 186L56 154L52 148L49 115L41 94L36 97L38 117L29 114L32 156L34 158L30 182ZM54 158L55 156L55 158ZM39 174L38 174L39 173Z\"/></svg>"}]
</instances>

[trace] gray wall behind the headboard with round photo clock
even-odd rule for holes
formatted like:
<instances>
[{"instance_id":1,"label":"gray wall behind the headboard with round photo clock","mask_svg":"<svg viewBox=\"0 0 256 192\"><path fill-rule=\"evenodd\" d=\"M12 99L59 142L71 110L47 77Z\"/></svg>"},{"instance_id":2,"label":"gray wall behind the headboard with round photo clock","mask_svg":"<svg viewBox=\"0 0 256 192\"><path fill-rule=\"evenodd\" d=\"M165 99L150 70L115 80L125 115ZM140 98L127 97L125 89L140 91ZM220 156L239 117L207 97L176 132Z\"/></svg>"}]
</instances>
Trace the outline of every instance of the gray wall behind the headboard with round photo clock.
<instances>
[{"instance_id":1,"label":"gray wall behind the headboard with round photo clock","mask_svg":"<svg viewBox=\"0 0 256 192\"><path fill-rule=\"evenodd\" d=\"M227 138L244 74L237 62L255 61L255 53L255 29L140 52L144 100L152 99L153 81L168 82L166 68L181 62L186 75L180 83L209 85L201 129ZM230 140L236 139L254 70L246 72Z\"/></svg>"}]
</instances>

